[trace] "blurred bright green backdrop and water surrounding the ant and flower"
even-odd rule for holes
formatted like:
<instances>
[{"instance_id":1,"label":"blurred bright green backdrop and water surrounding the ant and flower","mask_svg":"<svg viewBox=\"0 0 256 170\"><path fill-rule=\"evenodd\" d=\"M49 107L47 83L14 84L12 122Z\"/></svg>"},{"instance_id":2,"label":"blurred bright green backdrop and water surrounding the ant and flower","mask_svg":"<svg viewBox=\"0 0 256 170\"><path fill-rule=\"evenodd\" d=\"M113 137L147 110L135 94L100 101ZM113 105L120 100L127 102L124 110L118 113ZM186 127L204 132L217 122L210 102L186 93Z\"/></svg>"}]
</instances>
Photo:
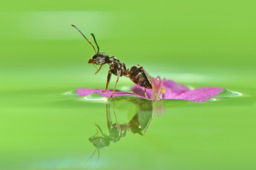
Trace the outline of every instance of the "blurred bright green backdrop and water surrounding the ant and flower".
<instances>
[{"instance_id":1,"label":"blurred bright green backdrop and water surrounding the ant and flower","mask_svg":"<svg viewBox=\"0 0 256 170\"><path fill-rule=\"evenodd\" d=\"M255 169L255 5L1 2L0 169ZM63 93L104 88L108 67L94 75L93 49L70 24L90 39L94 33L101 51L127 67L244 97L168 107L145 136L130 132L100 150L94 166L86 162L94 150L88 137L94 123L107 132L105 104ZM117 89L131 86L120 78Z\"/></svg>"}]
</instances>

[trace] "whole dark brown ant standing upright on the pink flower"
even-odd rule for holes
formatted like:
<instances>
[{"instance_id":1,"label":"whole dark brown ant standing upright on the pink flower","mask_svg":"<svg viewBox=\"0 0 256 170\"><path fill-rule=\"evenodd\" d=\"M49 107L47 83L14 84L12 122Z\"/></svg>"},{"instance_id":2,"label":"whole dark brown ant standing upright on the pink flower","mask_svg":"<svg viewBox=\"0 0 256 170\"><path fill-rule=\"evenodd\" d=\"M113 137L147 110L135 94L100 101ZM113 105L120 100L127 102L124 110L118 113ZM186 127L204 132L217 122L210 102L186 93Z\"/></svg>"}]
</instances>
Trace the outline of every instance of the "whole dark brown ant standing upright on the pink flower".
<instances>
[{"instance_id":1,"label":"whole dark brown ant standing upright on the pink flower","mask_svg":"<svg viewBox=\"0 0 256 170\"><path fill-rule=\"evenodd\" d=\"M116 75L116 84L119 80L119 77L125 76L126 78L130 78L131 81L134 82L134 84L137 84L139 86L144 87L145 89L145 97L148 98L148 95L146 93L146 89L153 89L154 90L154 95L157 96L157 98L160 99L160 97L157 95L156 89L154 88L153 81L151 79L151 76L148 75L148 72L145 71L143 67L140 67L140 65L135 65L132 66L131 69L126 69L125 64L121 63L119 60L116 59L115 56L112 56L111 58L108 56L108 54L99 52L99 46L96 43L96 38L91 33L94 43L96 44L97 51L91 41L88 40L88 38L85 37L85 35L79 30L78 27L75 25L71 24L72 27L76 28L76 30L79 31L79 33L88 41L89 44L91 44L91 47L93 47L93 50L95 52L95 55L88 61L89 64L93 64L94 67L96 65L100 65L99 69L96 67L96 72L95 75L99 72L99 70L102 68L102 65L108 64L109 65L109 71L108 71L108 79L107 79L107 85L104 91L102 92L107 92L108 89L108 84L109 81L111 80L111 75ZM115 89L116 89L116 84L114 86L113 92L111 94L111 98L114 95Z\"/></svg>"}]
</instances>

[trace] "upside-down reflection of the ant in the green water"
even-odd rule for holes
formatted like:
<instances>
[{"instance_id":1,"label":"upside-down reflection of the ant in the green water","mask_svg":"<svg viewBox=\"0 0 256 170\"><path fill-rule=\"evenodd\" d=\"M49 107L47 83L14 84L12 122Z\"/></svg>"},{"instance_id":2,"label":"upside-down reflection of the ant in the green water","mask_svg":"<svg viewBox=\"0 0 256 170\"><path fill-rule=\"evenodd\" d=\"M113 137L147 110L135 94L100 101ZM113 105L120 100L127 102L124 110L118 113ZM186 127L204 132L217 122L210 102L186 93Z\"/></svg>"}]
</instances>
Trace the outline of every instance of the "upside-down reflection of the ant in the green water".
<instances>
[{"instance_id":1,"label":"upside-down reflection of the ant in the green water","mask_svg":"<svg viewBox=\"0 0 256 170\"><path fill-rule=\"evenodd\" d=\"M124 105L126 106L127 106L127 102L130 102L132 103L132 105L135 105L137 107L136 108L137 111L135 112L135 114L133 114L132 118L125 123L119 123L116 118L116 111L115 111L116 107L122 105L122 102L125 102ZM113 104L113 114L111 114L112 104ZM148 126L150 125L151 120L154 117L154 106L155 106L154 102L148 101L144 98L134 98L134 97L108 98L108 102L106 105L108 135L105 134L97 124L95 124L97 128L96 134L89 138L89 141L93 144L93 146L96 147L93 154L95 154L97 150L98 159L99 159L99 149L103 149L105 147L108 147L110 143L115 143L119 141L122 137L125 137L127 131L131 131L134 134L145 135L145 132L147 131ZM112 121L113 115L114 115L114 121ZM93 156L93 154L91 155L91 157Z\"/></svg>"}]
</instances>

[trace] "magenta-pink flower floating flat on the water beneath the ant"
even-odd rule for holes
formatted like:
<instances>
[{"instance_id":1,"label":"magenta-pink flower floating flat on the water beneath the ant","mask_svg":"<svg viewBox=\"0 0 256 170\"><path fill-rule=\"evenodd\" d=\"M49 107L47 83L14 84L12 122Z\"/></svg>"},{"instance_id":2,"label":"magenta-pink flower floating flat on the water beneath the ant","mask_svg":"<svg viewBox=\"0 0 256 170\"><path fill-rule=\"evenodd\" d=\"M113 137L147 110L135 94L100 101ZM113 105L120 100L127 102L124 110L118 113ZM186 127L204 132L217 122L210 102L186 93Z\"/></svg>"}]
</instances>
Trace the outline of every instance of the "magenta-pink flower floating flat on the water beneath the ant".
<instances>
[{"instance_id":1,"label":"magenta-pink flower floating flat on the water beneath the ant","mask_svg":"<svg viewBox=\"0 0 256 170\"><path fill-rule=\"evenodd\" d=\"M186 101L195 101L195 102L204 102L209 98L213 98L214 95L218 95L220 92L223 91L224 88L218 88L214 86L210 87L203 87L199 89L188 89L187 86L182 84L178 84L175 81L160 79L160 77L152 78L154 87L157 90L157 95L162 96L164 99L170 100L186 100ZM165 93L161 93L161 88L165 89ZM133 95L139 98L145 98L145 89L142 86L133 86L131 92L114 92L113 97L122 96L122 95ZM102 95L104 97L110 98L112 94L112 90L108 89L107 92L102 92L104 89L76 89L76 92L80 96L91 95L94 92ZM152 96L152 89L146 89L148 98Z\"/></svg>"}]
</instances>

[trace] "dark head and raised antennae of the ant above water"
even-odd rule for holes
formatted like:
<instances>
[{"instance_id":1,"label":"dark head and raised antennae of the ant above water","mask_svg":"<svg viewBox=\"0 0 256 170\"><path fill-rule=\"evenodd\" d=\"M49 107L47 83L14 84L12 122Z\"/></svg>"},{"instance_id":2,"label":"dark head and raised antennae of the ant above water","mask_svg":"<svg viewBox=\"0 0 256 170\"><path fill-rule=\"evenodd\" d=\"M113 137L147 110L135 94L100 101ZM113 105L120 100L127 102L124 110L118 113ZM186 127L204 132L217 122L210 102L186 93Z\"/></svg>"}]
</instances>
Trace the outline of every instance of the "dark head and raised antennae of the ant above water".
<instances>
[{"instance_id":1,"label":"dark head and raised antennae of the ant above water","mask_svg":"<svg viewBox=\"0 0 256 170\"><path fill-rule=\"evenodd\" d=\"M79 31L79 33L86 39L86 41L88 41L89 44L91 44L91 41L88 40L88 38L85 37L85 35L78 29L78 27L76 27L75 25L71 24L72 27L76 28L76 30ZM88 61L89 64L96 64L96 65L102 65L102 64L106 64L109 61L109 57L106 53L99 53L99 46L96 42L96 38L93 35L93 33L91 33L91 35L93 36L93 40L97 46L97 51L95 50L95 47L93 46L93 44L91 44L91 47L93 47L93 50L95 51L95 55L93 55L93 57Z\"/></svg>"}]
</instances>

